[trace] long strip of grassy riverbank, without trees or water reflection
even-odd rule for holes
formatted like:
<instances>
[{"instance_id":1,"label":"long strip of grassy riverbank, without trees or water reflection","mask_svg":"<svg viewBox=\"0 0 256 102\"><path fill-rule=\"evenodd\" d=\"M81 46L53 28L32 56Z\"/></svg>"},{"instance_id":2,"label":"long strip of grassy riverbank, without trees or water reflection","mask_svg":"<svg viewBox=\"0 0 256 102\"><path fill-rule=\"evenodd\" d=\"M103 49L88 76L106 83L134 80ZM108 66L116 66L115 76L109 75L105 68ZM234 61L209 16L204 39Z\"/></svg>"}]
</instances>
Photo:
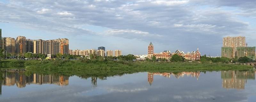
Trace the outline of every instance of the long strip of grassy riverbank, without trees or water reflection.
<instances>
[{"instance_id":1,"label":"long strip of grassy riverbank, without trees or water reflection","mask_svg":"<svg viewBox=\"0 0 256 102\"><path fill-rule=\"evenodd\" d=\"M212 62L127 62L127 61L110 61L110 60L53 60L53 61L20 61L20 60L2 60L1 68L24 68L24 69L69 69L69 70L101 70L101 69L154 69L154 70L181 70L181 69L251 69L252 66Z\"/></svg>"}]
</instances>

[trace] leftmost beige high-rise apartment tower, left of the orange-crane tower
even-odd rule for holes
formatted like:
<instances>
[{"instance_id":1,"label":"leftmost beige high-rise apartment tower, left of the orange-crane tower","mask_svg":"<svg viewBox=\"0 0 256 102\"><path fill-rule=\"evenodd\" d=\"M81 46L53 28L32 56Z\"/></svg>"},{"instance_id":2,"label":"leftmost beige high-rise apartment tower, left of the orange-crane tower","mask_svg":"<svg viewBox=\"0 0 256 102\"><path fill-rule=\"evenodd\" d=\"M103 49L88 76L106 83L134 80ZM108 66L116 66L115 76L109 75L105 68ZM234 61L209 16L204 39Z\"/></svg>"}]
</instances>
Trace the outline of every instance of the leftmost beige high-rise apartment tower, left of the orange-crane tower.
<instances>
[{"instance_id":1,"label":"leftmost beige high-rise apartment tower, left of the orange-crane tower","mask_svg":"<svg viewBox=\"0 0 256 102\"><path fill-rule=\"evenodd\" d=\"M4 50L6 50L7 53L15 54L15 39L6 37L6 38L3 38L3 40L4 40L4 46L3 46Z\"/></svg>"}]
</instances>

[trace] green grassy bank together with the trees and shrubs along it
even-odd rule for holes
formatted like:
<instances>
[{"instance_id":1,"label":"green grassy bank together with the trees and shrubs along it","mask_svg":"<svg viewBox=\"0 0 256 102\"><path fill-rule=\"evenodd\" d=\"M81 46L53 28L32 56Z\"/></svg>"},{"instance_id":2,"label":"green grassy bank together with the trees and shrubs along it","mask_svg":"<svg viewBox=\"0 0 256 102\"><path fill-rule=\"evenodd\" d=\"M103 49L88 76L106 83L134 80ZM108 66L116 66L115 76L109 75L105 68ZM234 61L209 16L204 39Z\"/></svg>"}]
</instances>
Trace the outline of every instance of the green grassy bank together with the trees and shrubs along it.
<instances>
[{"instance_id":1,"label":"green grassy bank together with the trees and shrubs along it","mask_svg":"<svg viewBox=\"0 0 256 102\"><path fill-rule=\"evenodd\" d=\"M202 56L201 62L184 61L182 57L175 57L171 62L164 60L148 60L145 62L133 61L134 55L119 57L101 57L90 55L90 58L78 58L76 60L55 58L52 60L1 60L1 68L23 68L23 69L44 69L44 70L194 70L194 69L252 69L252 66L240 64L228 64L227 58L206 58ZM173 57L174 58L174 57ZM118 59L118 60L117 60Z\"/></svg>"}]
</instances>

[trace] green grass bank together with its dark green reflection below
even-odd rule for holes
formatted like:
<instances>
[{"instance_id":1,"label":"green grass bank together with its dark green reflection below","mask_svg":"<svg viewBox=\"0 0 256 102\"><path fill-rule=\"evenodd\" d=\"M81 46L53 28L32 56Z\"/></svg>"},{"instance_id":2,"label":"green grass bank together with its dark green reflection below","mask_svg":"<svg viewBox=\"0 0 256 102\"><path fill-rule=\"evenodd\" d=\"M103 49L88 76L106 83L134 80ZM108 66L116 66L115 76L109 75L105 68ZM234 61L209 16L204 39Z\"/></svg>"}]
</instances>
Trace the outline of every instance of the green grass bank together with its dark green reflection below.
<instances>
[{"instance_id":1,"label":"green grass bank together with its dark green reflection below","mask_svg":"<svg viewBox=\"0 0 256 102\"><path fill-rule=\"evenodd\" d=\"M182 72L182 71L222 71L250 70L252 66L225 63L197 62L124 62L124 61L19 61L2 60L1 69L27 69L26 75L32 73L52 75L76 75L82 78L121 76L138 72Z\"/></svg>"}]
</instances>

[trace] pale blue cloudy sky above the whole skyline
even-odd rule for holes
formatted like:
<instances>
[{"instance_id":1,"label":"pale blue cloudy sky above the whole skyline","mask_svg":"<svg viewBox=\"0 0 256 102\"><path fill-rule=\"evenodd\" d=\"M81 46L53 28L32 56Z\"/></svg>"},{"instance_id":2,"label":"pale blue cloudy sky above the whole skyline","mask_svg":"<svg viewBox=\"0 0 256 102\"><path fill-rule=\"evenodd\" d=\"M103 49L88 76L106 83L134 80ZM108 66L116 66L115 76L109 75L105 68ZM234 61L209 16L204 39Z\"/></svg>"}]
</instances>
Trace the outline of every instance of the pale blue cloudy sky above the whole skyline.
<instances>
[{"instance_id":1,"label":"pale blue cloudy sky above the whole skyline","mask_svg":"<svg viewBox=\"0 0 256 102\"><path fill-rule=\"evenodd\" d=\"M0 0L3 37L68 38L70 49L123 55L199 51L221 55L222 38L256 46L256 0Z\"/></svg>"}]
</instances>

